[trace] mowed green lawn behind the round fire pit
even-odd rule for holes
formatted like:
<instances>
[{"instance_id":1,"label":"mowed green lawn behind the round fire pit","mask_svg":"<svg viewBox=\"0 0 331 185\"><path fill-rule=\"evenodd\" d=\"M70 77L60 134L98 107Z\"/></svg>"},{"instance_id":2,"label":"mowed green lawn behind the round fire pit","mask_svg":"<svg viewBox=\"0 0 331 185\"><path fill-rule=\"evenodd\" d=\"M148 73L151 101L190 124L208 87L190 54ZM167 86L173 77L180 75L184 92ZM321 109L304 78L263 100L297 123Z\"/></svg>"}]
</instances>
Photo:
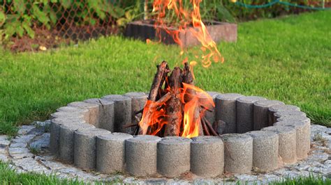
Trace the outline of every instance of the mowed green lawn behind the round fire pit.
<instances>
[{"instance_id":1,"label":"mowed green lawn behind the round fire pit","mask_svg":"<svg viewBox=\"0 0 331 185\"><path fill-rule=\"evenodd\" d=\"M237 42L218 45L225 62L194 69L196 85L279 99L331 127L330 17L321 11L240 23ZM45 120L69 102L147 92L156 64L181 64L179 51L121 36L39 53L1 50L0 132L15 134L16 125Z\"/></svg>"}]
</instances>

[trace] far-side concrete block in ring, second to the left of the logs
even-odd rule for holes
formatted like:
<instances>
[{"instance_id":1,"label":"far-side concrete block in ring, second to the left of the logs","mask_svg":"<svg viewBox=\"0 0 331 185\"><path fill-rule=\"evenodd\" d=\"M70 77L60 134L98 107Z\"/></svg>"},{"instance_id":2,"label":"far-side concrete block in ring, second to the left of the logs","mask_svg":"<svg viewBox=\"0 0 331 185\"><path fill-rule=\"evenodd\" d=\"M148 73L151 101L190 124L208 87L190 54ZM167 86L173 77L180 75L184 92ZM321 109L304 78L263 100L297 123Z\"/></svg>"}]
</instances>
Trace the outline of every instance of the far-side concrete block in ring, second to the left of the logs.
<instances>
[{"instance_id":1,"label":"far-side concrete block in ring, second to the left of the logs","mask_svg":"<svg viewBox=\"0 0 331 185\"><path fill-rule=\"evenodd\" d=\"M124 95L107 95L102 97L109 101L113 101L114 104L114 131L130 133L131 128L124 129L123 126L126 124L131 124L131 98Z\"/></svg>"}]
</instances>

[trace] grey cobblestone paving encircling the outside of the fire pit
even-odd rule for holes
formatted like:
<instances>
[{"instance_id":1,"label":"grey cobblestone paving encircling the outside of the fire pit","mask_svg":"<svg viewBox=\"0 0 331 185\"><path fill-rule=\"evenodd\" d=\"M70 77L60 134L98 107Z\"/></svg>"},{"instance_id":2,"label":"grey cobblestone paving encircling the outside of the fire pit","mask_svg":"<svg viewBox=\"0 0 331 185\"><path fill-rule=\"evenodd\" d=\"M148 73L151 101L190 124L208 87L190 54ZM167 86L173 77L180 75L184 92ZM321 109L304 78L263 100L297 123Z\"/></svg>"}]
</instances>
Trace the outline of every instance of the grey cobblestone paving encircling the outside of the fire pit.
<instances>
[{"instance_id":1,"label":"grey cobblestone paving encircling the outside of the fire pit","mask_svg":"<svg viewBox=\"0 0 331 185\"><path fill-rule=\"evenodd\" d=\"M46 122L38 122L38 128L45 127ZM40 124L39 124L40 123ZM33 123L34 124L34 123ZM48 126L46 126L48 127ZM102 181L109 184L267 184L274 181L297 177L308 177L311 173L321 175L324 179L331 175L331 128L318 124L311 125L311 152L306 159L294 164L285 165L277 170L267 173L258 171L249 174L228 174L226 177L197 177L187 173L175 178L146 177L135 178L125 174L114 173L112 175L94 171L84 171L67 163L61 163L54 158L47 149L42 147L38 154L32 154L27 150L26 143L31 143L41 132L33 131L34 125L19 127L20 136L8 139L8 136L0 136L0 160L8 162L9 167L17 173L36 172L38 174L56 174L60 178L78 179L86 183ZM47 131L48 129L43 129ZM42 143L49 143L48 137L41 137ZM14 148L17 148L14 150ZM10 150L10 153L8 152ZM15 157L15 158L14 158Z\"/></svg>"}]
</instances>

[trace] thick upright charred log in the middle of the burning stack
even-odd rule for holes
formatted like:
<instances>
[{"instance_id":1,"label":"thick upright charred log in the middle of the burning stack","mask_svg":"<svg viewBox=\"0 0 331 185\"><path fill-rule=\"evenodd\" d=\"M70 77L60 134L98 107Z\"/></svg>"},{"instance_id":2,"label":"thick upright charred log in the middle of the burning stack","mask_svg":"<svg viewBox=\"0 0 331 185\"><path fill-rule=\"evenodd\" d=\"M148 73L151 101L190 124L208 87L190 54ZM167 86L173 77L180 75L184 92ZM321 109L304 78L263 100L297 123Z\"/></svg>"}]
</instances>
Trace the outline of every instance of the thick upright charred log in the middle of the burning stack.
<instances>
[{"instance_id":1,"label":"thick upright charred log in the middle of the burning stack","mask_svg":"<svg viewBox=\"0 0 331 185\"><path fill-rule=\"evenodd\" d=\"M170 87L171 97L165 108L165 118L168 124L165 124L164 136L179 136L180 126L183 117L182 102L180 101L179 88L182 85L182 70L175 67L168 77L168 86Z\"/></svg>"}]
</instances>

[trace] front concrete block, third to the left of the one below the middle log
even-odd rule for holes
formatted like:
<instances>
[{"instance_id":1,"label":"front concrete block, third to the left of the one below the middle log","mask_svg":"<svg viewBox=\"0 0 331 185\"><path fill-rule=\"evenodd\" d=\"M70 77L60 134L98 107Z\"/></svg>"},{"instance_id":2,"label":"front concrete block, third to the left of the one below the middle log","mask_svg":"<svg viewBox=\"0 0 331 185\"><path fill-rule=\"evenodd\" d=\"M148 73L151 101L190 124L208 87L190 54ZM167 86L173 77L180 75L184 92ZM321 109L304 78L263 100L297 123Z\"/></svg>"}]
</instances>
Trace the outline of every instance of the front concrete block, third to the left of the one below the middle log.
<instances>
[{"instance_id":1,"label":"front concrete block, third to the left of the one below the middle log","mask_svg":"<svg viewBox=\"0 0 331 185\"><path fill-rule=\"evenodd\" d=\"M78 168L96 168L96 136L110 134L105 129L78 129L75 131L74 163Z\"/></svg>"}]
</instances>

